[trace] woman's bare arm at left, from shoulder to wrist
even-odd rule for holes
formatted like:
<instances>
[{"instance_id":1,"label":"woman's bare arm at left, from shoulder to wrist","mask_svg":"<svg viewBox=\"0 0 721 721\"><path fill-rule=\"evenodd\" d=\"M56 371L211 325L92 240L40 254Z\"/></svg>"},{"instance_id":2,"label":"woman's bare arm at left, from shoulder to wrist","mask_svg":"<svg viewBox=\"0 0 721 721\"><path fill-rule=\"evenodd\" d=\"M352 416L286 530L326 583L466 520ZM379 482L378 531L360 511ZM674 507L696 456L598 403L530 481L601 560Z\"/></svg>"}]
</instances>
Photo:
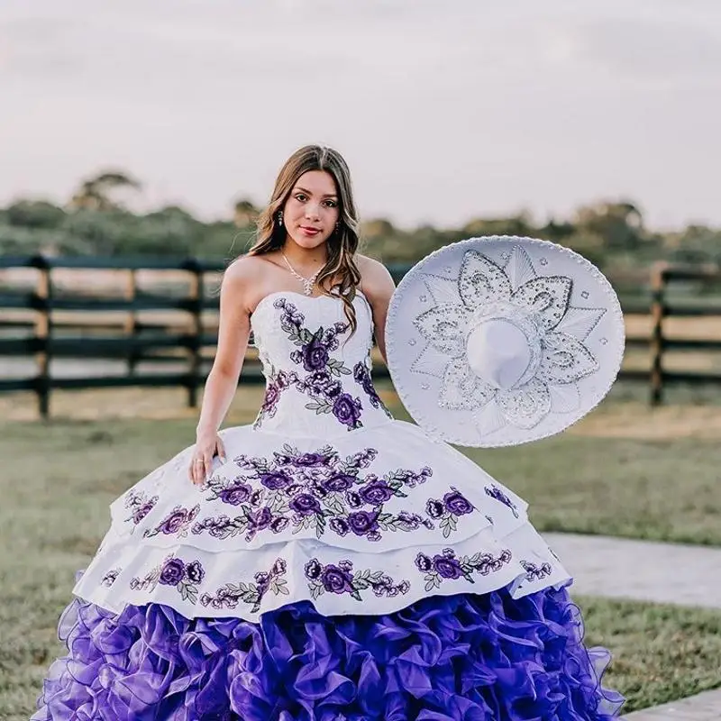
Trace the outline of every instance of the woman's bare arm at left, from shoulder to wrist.
<instances>
[{"instance_id":1,"label":"woman's bare arm at left, from shoulder to wrist","mask_svg":"<svg viewBox=\"0 0 721 721\"><path fill-rule=\"evenodd\" d=\"M216 434L223 423L238 387L242 362L251 334L251 316L246 299L251 272L246 259L236 260L225 270L220 292L218 347L213 368L205 381L203 406L197 424L201 435Z\"/></svg>"}]
</instances>

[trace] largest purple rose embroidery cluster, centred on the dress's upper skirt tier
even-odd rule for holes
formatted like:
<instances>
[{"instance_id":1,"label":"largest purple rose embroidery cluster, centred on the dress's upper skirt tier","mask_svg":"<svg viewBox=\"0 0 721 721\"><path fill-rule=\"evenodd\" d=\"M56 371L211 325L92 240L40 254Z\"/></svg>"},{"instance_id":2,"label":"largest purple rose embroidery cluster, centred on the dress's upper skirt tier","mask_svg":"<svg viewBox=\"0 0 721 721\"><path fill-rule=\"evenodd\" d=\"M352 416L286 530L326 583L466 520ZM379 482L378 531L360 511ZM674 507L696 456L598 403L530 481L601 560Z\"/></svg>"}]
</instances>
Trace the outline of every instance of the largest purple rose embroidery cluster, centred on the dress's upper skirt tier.
<instances>
[{"instance_id":1,"label":"largest purple rose embroidery cluster, centred on the dress's upper skirt tier","mask_svg":"<svg viewBox=\"0 0 721 721\"><path fill-rule=\"evenodd\" d=\"M292 525L294 534L312 528L321 538L330 527L340 536L354 534L379 541L384 532L414 531L422 525L434 528L432 520L418 514L384 510L391 498L407 497L406 488L424 483L433 471L400 469L382 478L363 474L377 455L375 449L366 448L343 461L330 445L301 453L286 444L272 460L238 456L233 462L244 475L234 479L212 476L206 484L209 498L236 506L237 515L206 517L198 520L191 532L220 539L245 534L250 542L260 531L279 534ZM260 488L251 493L255 484ZM455 489L447 497L456 514L464 503L470 506Z\"/></svg>"}]
</instances>

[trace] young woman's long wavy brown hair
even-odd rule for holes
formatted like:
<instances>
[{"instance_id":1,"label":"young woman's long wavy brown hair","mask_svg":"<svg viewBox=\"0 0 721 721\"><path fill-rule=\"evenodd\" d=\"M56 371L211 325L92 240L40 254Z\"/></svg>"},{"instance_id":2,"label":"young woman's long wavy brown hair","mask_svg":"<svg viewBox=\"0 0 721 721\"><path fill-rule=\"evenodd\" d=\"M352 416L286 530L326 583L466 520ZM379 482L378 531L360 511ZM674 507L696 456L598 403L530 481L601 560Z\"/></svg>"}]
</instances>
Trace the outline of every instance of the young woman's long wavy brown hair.
<instances>
[{"instance_id":1,"label":"young woman's long wavy brown hair","mask_svg":"<svg viewBox=\"0 0 721 721\"><path fill-rule=\"evenodd\" d=\"M351 324L351 333L358 327L353 299L360 285L360 271L353 260L359 245L358 211L353 200L351 171L341 153L322 145L306 145L290 156L280 169L269 205L260 213L256 241L249 255L262 255L278 251L286 241L286 230L278 223L278 211L286 205L297 179L309 170L330 173L338 192L338 228L326 241L328 260L316 280L324 296L340 297L343 310ZM325 290L324 281L331 279L333 286Z\"/></svg>"}]
</instances>

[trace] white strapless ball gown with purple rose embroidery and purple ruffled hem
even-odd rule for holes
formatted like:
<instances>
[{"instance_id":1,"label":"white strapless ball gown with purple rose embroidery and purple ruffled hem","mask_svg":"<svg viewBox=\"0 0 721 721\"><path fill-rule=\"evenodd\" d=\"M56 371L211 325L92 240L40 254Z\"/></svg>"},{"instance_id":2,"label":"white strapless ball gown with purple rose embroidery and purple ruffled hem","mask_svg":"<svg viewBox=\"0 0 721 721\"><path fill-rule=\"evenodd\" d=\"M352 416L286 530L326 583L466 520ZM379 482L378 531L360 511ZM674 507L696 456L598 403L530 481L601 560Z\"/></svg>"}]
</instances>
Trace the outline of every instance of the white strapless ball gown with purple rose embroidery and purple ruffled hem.
<instances>
[{"instance_id":1,"label":"white strapless ball gown with purple rose embroidery and purple ruffled hem","mask_svg":"<svg viewBox=\"0 0 721 721\"><path fill-rule=\"evenodd\" d=\"M603 649L526 503L394 420L372 316L273 293L267 391L202 488L193 448L111 505L33 719L608 719Z\"/></svg>"}]
</instances>

